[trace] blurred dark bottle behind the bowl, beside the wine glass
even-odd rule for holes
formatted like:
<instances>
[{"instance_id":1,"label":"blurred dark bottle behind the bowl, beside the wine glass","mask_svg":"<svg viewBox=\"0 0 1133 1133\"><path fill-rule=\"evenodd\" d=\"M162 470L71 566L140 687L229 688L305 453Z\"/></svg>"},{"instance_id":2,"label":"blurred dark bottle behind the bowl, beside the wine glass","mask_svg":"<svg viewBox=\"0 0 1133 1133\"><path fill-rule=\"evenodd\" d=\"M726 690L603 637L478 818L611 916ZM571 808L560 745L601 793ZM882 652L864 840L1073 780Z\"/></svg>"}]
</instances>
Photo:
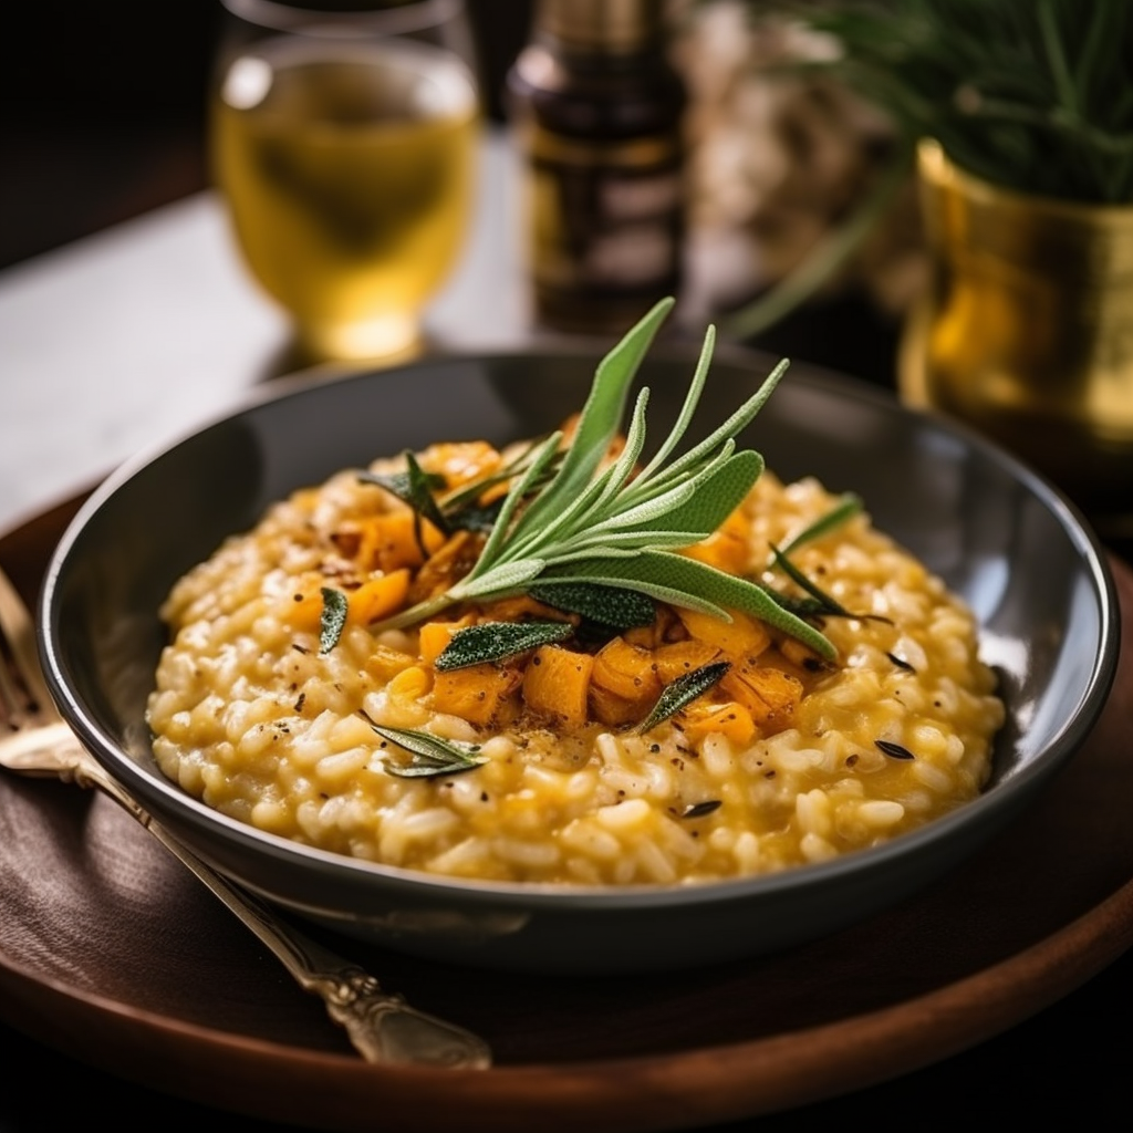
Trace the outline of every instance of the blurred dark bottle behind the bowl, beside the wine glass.
<instances>
[{"instance_id":1,"label":"blurred dark bottle behind the bowl, beside the wine glass","mask_svg":"<svg viewBox=\"0 0 1133 1133\"><path fill-rule=\"evenodd\" d=\"M684 83L664 0L537 0L508 76L535 316L620 333L682 282Z\"/></svg>"}]
</instances>

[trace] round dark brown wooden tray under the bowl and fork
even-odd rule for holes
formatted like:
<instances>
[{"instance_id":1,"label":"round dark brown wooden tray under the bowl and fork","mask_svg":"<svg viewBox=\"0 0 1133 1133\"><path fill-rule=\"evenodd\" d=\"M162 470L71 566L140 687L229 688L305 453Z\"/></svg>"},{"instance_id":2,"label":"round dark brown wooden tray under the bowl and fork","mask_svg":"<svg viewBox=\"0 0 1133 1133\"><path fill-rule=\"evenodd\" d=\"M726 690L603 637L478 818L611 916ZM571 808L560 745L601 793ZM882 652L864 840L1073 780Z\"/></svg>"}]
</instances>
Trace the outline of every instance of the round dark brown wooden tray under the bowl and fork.
<instances>
[{"instance_id":1,"label":"round dark brown wooden tray under the bowl and fork","mask_svg":"<svg viewBox=\"0 0 1133 1133\"><path fill-rule=\"evenodd\" d=\"M25 597L75 506L0 538ZM911 1075L1056 1004L1133 944L1133 571L1114 570L1126 645L1081 753L960 872L849 931L641 980L508 978L335 942L496 1056L480 1073L370 1066L113 803L3 776L0 1019L161 1097L331 1131L689 1130ZM1097 1097L1089 1087L1074 1084Z\"/></svg>"}]
</instances>

